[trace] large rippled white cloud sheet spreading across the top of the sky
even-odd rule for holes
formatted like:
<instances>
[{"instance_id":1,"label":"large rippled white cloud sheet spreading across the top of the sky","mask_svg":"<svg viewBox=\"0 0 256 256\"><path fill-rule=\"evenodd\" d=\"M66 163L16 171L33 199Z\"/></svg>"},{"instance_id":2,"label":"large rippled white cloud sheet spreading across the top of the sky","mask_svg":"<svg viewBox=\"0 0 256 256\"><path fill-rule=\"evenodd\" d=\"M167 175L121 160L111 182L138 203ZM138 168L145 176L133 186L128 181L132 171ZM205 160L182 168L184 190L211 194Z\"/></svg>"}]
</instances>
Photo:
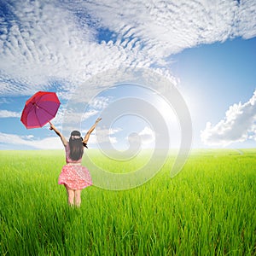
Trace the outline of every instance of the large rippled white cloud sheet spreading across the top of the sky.
<instances>
[{"instance_id":1,"label":"large rippled white cloud sheet spreading across the top of the sky","mask_svg":"<svg viewBox=\"0 0 256 256\"><path fill-rule=\"evenodd\" d=\"M255 1L7 1L0 17L0 94L49 89L68 98L96 73L158 66L198 44L256 36ZM105 29L113 32L98 42ZM88 85L90 90L90 85Z\"/></svg>"}]
</instances>

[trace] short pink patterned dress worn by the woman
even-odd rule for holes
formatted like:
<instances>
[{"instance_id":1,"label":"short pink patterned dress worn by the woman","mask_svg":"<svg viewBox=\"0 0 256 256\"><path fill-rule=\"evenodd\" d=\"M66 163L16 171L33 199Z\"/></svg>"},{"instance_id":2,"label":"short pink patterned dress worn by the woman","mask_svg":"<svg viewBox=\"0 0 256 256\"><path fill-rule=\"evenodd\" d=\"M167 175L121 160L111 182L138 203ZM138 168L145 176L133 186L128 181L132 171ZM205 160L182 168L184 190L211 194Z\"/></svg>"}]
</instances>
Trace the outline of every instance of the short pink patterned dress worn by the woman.
<instances>
[{"instance_id":1,"label":"short pink patterned dress worn by the woman","mask_svg":"<svg viewBox=\"0 0 256 256\"><path fill-rule=\"evenodd\" d=\"M71 160L69 158L69 143L65 146L67 165L62 167L58 183L67 184L70 189L80 190L92 185L90 172L85 166L81 165L82 158Z\"/></svg>"}]
</instances>

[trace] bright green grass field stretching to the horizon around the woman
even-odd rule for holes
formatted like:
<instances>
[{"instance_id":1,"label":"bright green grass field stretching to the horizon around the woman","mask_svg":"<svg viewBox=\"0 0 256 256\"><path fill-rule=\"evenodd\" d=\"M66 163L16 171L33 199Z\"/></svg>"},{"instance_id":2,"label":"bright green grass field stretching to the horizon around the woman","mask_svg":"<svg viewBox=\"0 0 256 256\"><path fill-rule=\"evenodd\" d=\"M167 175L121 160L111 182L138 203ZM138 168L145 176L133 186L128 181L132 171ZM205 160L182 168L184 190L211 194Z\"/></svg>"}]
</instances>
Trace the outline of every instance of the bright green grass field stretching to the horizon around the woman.
<instances>
[{"instance_id":1,"label":"bright green grass field stretching to the horizon around the woman","mask_svg":"<svg viewBox=\"0 0 256 256\"><path fill-rule=\"evenodd\" d=\"M256 255L256 149L241 151L192 151L174 178L170 156L137 189L84 189L80 208L57 184L64 151L0 151L0 254Z\"/></svg>"}]
</instances>

